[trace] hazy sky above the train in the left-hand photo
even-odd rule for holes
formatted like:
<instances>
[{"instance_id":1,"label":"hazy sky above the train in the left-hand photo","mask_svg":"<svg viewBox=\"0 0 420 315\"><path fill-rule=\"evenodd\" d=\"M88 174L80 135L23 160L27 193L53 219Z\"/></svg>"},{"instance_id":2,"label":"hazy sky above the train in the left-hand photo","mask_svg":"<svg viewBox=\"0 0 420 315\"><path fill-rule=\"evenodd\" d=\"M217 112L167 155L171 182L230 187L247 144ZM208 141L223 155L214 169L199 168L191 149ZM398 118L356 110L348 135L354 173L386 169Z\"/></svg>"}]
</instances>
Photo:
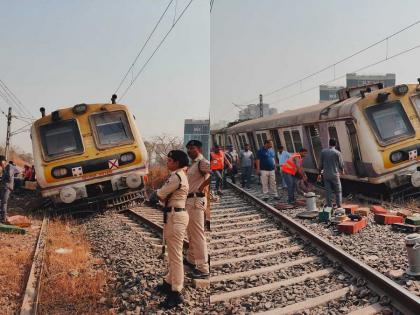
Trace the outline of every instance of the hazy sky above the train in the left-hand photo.
<instances>
[{"instance_id":1,"label":"hazy sky above the train in the left-hand photo","mask_svg":"<svg viewBox=\"0 0 420 315\"><path fill-rule=\"evenodd\" d=\"M0 0L0 79L36 117L41 106L50 112L109 102L169 1ZM173 1L177 15L188 2ZM134 75L169 30L174 13L172 5ZM144 136L182 136L185 118L208 117L209 32L209 1L195 0L123 99ZM0 98L0 109L6 107ZM13 129L22 124L15 121ZM0 144L5 126L0 116ZM13 144L31 151L29 133L14 137Z\"/></svg>"}]
</instances>

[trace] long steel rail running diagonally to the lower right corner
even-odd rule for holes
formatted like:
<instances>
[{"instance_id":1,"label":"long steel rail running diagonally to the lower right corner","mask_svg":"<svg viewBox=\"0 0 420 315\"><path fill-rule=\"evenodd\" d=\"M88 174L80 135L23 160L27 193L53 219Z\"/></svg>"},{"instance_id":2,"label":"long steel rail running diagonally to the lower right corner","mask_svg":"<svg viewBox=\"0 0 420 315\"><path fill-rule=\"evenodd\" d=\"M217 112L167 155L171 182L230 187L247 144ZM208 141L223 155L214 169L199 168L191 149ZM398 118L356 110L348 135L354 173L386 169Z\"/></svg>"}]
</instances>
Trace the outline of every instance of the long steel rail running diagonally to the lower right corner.
<instances>
[{"instance_id":1,"label":"long steel rail running diagonally to the lower right corner","mask_svg":"<svg viewBox=\"0 0 420 315\"><path fill-rule=\"evenodd\" d=\"M334 246L319 235L311 232L302 224L287 217L279 210L266 204L265 202L251 195L239 186L232 184L231 182L227 183L234 190L243 194L248 199L252 200L254 203L262 207L264 210L274 215L274 217L279 219L282 224L284 224L294 232L298 233L303 238L310 241L312 245L325 252L331 260L341 263L342 267L345 270L347 270L350 274L366 280L367 286L370 289L385 297L388 297L391 301L391 304L398 310L400 310L403 314L420 314L420 297L410 293L408 290L396 284L388 277L369 267L360 260L357 260L356 258L351 256L344 250L340 249L339 247Z\"/></svg>"}]
</instances>

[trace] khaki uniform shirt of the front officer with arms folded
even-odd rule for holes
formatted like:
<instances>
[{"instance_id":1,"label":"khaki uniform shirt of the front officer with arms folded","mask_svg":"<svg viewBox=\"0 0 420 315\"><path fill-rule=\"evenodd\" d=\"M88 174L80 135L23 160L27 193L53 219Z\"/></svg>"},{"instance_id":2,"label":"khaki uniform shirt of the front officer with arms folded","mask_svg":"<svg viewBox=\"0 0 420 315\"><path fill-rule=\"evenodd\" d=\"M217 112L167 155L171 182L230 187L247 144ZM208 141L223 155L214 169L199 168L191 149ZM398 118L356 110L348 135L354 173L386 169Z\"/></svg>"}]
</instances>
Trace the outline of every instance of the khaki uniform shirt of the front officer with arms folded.
<instances>
[{"instance_id":1,"label":"khaki uniform shirt of the front officer with arms folded","mask_svg":"<svg viewBox=\"0 0 420 315\"><path fill-rule=\"evenodd\" d=\"M179 177L176 174L178 174ZM159 198L165 200L169 194L172 194L169 201L166 203L167 207L185 208L188 187L188 179L184 169L178 169L172 172L166 183L158 189L157 195Z\"/></svg>"}]
</instances>

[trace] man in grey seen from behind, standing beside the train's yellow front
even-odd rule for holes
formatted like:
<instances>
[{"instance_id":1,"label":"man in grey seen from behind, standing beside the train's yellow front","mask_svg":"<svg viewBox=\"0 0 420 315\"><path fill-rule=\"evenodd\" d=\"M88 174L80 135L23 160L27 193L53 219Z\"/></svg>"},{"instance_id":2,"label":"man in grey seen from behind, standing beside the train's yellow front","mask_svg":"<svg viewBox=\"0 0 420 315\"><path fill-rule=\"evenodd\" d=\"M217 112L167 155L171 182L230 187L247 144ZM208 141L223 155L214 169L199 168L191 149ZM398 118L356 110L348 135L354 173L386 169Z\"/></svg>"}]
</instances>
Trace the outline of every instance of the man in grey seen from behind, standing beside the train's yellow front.
<instances>
[{"instance_id":1,"label":"man in grey seen from behind, standing beside the train's yellow front","mask_svg":"<svg viewBox=\"0 0 420 315\"><path fill-rule=\"evenodd\" d=\"M324 177L324 186L327 190L327 207L332 207L331 195L335 193L335 203L338 208L341 208L342 203L342 189L340 174L344 175L344 163L341 152L335 146L337 140L331 138L329 141L329 148L321 152L319 163L318 181L321 180L321 174Z\"/></svg>"}]
</instances>

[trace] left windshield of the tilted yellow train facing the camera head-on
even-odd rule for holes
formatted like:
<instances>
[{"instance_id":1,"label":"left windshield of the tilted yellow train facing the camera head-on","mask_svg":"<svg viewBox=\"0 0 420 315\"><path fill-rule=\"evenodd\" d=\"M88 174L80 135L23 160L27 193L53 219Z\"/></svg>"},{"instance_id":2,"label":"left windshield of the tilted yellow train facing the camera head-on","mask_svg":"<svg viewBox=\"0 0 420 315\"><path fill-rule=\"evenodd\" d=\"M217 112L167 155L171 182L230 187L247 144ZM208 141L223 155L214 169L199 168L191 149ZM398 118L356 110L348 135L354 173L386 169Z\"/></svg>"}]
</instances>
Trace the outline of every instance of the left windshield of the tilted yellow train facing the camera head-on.
<instances>
[{"instance_id":1,"label":"left windshield of the tilted yellow train facing the camera head-on","mask_svg":"<svg viewBox=\"0 0 420 315\"><path fill-rule=\"evenodd\" d=\"M83 152L79 127L75 120L65 120L39 128L45 154L54 158Z\"/></svg>"}]
</instances>

